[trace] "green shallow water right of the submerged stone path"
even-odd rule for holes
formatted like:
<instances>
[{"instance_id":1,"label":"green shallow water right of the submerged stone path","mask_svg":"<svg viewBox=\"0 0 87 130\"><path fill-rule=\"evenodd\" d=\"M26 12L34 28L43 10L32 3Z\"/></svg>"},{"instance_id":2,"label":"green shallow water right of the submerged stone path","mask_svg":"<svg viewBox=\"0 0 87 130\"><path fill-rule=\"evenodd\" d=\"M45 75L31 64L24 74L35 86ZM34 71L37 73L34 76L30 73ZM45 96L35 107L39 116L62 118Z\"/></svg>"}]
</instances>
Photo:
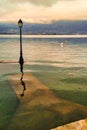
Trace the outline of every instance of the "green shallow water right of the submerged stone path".
<instances>
[{"instance_id":1,"label":"green shallow water right of the submerged stone path","mask_svg":"<svg viewBox=\"0 0 87 130\"><path fill-rule=\"evenodd\" d=\"M58 97L87 106L87 67L35 67L33 75Z\"/></svg>"}]
</instances>

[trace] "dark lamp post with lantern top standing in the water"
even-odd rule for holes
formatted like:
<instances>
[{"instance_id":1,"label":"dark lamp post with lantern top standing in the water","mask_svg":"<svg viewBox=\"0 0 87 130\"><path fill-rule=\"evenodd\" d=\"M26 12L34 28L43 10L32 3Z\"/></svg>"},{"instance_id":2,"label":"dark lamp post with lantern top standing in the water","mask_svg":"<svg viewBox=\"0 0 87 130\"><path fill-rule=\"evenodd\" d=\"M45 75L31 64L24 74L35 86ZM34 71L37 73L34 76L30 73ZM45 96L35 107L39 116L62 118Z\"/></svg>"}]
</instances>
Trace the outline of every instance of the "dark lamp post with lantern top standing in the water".
<instances>
[{"instance_id":1,"label":"dark lamp post with lantern top standing in the water","mask_svg":"<svg viewBox=\"0 0 87 130\"><path fill-rule=\"evenodd\" d=\"M24 59L23 59L23 53L22 53L22 26L23 26L23 22L20 19L18 21L18 26L20 29L20 57L19 57L19 64L20 64L20 71L23 75L23 64L24 64Z\"/></svg>"}]
</instances>

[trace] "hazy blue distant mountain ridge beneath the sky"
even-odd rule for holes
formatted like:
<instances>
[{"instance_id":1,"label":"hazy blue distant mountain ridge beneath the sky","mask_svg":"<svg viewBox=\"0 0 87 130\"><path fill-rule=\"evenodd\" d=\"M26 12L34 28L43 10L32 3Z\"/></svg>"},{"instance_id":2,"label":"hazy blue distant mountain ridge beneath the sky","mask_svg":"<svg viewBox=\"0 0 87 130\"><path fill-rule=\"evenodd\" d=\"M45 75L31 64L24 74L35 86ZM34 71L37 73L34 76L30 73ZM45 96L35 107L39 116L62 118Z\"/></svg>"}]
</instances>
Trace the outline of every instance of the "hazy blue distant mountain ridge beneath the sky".
<instances>
[{"instance_id":1,"label":"hazy blue distant mountain ridge beneath the sky","mask_svg":"<svg viewBox=\"0 0 87 130\"><path fill-rule=\"evenodd\" d=\"M50 24L24 23L22 32L31 35L87 34L87 20L54 21ZM18 25L15 23L0 23L0 34L19 34Z\"/></svg>"}]
</instances>

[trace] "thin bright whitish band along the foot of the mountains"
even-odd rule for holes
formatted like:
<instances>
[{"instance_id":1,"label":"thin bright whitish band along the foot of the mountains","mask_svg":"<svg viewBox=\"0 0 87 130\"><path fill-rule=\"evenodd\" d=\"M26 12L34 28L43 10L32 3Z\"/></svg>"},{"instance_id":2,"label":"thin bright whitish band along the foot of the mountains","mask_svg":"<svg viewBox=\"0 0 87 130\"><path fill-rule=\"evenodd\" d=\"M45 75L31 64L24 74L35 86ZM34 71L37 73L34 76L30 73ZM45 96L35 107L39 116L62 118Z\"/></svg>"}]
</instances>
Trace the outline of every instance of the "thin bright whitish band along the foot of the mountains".
<instances>
[{"instance_id":1,"label":"thin bright whitish band along the foot of the mountains","mask_svg":"<svg viewBox=\"0 0 87 130\"><path fill-rule=\"evenodd\" d=\"M0 38L18 38L19 35L0 34ZM87 38L87 35L23 35L23 38Z\"/></svg>"}]
</instances>

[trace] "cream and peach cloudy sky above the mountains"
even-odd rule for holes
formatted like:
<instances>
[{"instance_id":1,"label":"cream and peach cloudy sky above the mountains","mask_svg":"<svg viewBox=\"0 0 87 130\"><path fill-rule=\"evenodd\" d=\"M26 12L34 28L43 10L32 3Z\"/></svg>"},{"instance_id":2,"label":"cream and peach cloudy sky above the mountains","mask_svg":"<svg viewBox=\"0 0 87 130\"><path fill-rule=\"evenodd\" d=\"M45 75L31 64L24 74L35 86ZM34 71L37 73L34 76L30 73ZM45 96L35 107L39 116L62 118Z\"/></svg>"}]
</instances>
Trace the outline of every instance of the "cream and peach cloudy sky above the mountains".
<instances>
[{"instance_id":1,"label":"cream and peach cloudy sky above the mountains","mask_svg":"<svg viewBox=\"0 0 87 130\"><path fill-rule=\"evenodd\" d=\"M0 0L0 22L87 20L87 0Z\"/></svg>"}]
</instances>

